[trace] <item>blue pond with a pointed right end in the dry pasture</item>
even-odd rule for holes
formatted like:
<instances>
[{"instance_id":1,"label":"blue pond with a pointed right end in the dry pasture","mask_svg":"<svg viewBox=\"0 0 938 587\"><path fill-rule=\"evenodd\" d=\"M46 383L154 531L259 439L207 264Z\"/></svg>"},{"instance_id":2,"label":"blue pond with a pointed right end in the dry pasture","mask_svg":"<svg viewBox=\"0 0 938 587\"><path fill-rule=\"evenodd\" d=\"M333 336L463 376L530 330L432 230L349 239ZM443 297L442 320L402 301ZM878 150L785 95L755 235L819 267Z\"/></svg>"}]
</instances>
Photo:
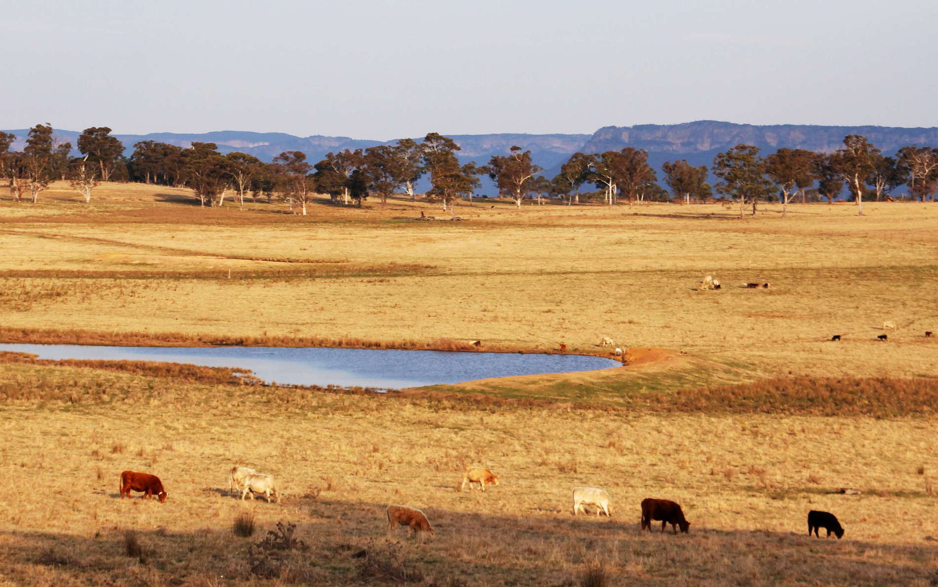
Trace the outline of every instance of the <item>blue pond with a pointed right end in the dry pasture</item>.
<instances>
[{"instance_id":1,"label":"blue pond with a pointed right end in the dry pasture","mask_svg":"<svg viewBox=\"0 0 938 587\"><path fill-rule=\"evenodd\" d=\"M192 363L250 369L267 383L400 389L473 379L591 371L620 366L582 355L284 347L89 347L0 344L40 359Z\"/></svg>"}]
</instances>

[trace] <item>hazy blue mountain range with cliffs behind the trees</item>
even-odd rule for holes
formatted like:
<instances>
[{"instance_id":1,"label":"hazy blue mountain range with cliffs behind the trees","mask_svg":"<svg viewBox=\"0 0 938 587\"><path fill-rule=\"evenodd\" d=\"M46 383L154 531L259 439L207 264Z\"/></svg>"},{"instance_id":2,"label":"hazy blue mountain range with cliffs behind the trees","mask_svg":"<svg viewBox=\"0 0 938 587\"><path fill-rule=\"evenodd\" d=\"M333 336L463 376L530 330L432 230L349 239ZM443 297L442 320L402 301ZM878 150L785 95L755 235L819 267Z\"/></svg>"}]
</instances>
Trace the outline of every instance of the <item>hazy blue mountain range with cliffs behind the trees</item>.
<instances>
[{"instance_id":1,"label":"hazy blue mountain range with cliffs behind the trees","mask_svg":"<svg viewBox=\"0 0 938 587\"><path fill-rule=\"evenodd\" d=\"M14 149L22 149L28 129L12 132L18 140ZM76 145L80 132L59 131L55 133L63 140ZM552 176L569 156L577 151L601 153L623 147L643 148L649 160L660 169L662 162L686 159L694 165L710 165L720 151L739 144L760 147L763 154L779 147L806 148L831 152L842 146L847 134L862 134L872 143L892 155L900 147L938 147L938 128L895 128L895 127L837 127L815 125L752 125L699 120L684 124L643 124L632 127L603 127L589 134L455 134L448 135L461 147L460 159L479 164L489 162L492 155L504 155L514 145L531 150L535 162L545 168L545 175ZM353 139L347 136L312 135L295 136L285 132L215 131L199 134L154 132L151 134L114 134L127 148L133 150L134 143L152 140L180 147L189 147L193 141L215 143L219 151L242 151L262 161L271 161L283 151L299 150L306 153L310 162L318 162L329 151L344 148L366 148L386 145L394 141L372 141ZM419 139L420 137L415 137ZM660 175L660 174L659 174Z\"/></svg>"}]
</instances>

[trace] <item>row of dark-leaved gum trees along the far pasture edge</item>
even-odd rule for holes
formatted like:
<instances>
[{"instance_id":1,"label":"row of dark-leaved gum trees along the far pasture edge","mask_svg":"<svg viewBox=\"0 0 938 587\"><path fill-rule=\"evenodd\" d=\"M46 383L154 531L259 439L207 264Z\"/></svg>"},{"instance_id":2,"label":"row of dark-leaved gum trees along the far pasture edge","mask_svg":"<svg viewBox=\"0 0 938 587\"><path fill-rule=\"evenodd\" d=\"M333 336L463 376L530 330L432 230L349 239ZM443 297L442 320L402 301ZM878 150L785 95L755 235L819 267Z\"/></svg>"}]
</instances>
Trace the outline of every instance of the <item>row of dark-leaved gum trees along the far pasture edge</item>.
<instances>
[{"instance_id":1,"label":"row of dark-leaved gum trees along the far pasture edge","mask_svg":"<svg viewBox=\"0 0 938 587\"><path fill-rule=\"evenodd\" d=\"M525 200L580 204L601 200L615 205L645 201L707 201L714 197L734 200L740 216L751 205L755 214L760 201L779 201L782 213L788 204L826 198L833 202L846 187L863 213L864 198L890 198L893 190L907 185L913 199L935 201L938 189L938 148L901 147L885 156L861 135L844 137L833 153L800 148L779 148L765 157L751 145L737 145L719 153L708 169L686 160L661 166L667 190L658 184L658 173L643 149L625 147L603 153L574 153L553 178L542 175L530 150L511 147L507 155L494 155L484 165L461 163L460 146L451 138L431 132L420 142L401 139L394 145L343 149L327 153L311 163L302 151L284 151L272 162L234 151L222 155L215 143L193 142L178 147L151 140L134 144L129 157L123 144L107 127L85 129L78 137L80 157L72 146L56 139L52 126L30 129L22 151L11 150L16 137L0 132L0 178L17 202L38 202L39 194L55 179L67 179L90 203L100 181L136 181L188 187L202 206L219 207L229 195L243 207L246 197L256 201L285 201L298 214L306 214L311 198L326 194L332 202L361 206L369 196L382 206L394 193L416 199L416 183L429 179L424 196L443 209L463 197L472 197L479 178L488 177L498 196L521 207ZM719 181L707 182L709 173ZM584 185L597 192L583 193Z\"/></svg>"}]
</instances>

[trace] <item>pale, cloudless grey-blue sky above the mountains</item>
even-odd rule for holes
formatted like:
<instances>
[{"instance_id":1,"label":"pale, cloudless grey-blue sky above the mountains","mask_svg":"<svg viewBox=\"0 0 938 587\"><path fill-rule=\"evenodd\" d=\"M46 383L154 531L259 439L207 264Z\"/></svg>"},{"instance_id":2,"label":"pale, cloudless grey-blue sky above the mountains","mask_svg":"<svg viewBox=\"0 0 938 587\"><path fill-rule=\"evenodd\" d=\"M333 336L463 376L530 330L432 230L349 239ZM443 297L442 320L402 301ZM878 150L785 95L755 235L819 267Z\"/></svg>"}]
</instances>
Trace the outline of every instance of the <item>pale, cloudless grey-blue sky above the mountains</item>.
<instances>
[{"instance_id":1,"label":"pale, cloudless grey-blue sky above the mountains","mask_svg":"<svg viewBox=\"0 0 938 587\"><path fill-rule=\"evenodd\" d=\"M934 0L0 0L0 128L938 126Z\"/></svg>"}]
</instances>

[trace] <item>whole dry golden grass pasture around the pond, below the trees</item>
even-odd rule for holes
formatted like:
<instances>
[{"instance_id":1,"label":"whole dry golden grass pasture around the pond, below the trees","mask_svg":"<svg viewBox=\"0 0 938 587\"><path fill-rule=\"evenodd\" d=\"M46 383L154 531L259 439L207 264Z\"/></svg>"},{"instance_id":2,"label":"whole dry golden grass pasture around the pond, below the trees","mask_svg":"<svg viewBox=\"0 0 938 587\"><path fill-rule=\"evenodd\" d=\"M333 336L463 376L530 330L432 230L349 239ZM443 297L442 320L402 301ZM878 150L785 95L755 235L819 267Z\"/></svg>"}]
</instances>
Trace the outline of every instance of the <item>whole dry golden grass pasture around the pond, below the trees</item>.
<instances>
[{"instance_id":1,"label":"whole dry golden grass pasture around the pond, below the trees","mask_svg":"<svg viewBox=\"0 0 938 587\"><path fill-rule=\"evenodd\" d=\"M477 200L414 222L441 213L193 202L0 201L0 340L598 354L612 336L628 363L385 396L5 359L0 585L938 584L938 206ZM705 274L723 288L696 291ZM277 475L282 502L227 495L234 464ZM465 465L501 486L458 491ZM167 501L119 500L125 470ZM573 517L577 486L613 517ZM645 497L680 502L690 533L641 533ZM386 541L394 502L435 536ZM810 509L844 538L808 538ZM245 512L257 530L235 536ZM278 521L305 546L262 543Z\"/></svg>"}]
</instances>

